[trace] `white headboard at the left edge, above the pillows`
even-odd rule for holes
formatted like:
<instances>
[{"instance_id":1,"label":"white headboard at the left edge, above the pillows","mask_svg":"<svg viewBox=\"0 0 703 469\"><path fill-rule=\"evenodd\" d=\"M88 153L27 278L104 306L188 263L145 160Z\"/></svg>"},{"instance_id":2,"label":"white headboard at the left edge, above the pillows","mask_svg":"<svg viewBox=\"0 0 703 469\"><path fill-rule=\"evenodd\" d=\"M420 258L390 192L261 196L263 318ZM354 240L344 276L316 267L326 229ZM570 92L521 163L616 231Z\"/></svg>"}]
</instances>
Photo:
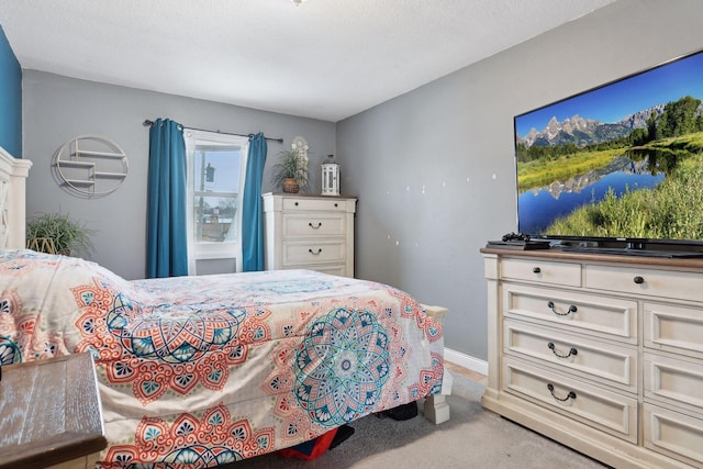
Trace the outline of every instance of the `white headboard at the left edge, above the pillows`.
<instances>
[{"instance_id":1,"label":"white headboard at the left edge, above the pillows","mask_svg":"<svg viewBox=\"0 0 703 469\"><path fill-rule=\"evenodd\" d=\"M13 158L0 147L0 248L24 247L25 188L32 161Z\"/></svg>"}]
</instances>

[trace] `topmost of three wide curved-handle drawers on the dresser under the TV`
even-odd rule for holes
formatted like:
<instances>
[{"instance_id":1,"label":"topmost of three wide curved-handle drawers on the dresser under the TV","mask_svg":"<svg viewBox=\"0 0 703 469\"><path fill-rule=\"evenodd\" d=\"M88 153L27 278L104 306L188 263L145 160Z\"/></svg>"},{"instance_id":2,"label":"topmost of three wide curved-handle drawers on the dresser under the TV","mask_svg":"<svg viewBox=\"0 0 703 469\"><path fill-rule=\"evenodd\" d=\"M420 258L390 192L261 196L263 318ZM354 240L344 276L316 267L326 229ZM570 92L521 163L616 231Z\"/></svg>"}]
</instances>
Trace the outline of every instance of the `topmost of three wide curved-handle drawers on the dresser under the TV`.
<instances>
[{"instance_id":1,"label":"topmost of three wide curved-handle drawers on the dresser under the TV","mask_svg":"<svg viewBox=\"0 0 703 469\"><path fill-rule=\"evenodd\" d=\"M506 316L546 321L576 332L637 343L637 302L515 283L503 286Z\"/></svg>"}]
</instances>

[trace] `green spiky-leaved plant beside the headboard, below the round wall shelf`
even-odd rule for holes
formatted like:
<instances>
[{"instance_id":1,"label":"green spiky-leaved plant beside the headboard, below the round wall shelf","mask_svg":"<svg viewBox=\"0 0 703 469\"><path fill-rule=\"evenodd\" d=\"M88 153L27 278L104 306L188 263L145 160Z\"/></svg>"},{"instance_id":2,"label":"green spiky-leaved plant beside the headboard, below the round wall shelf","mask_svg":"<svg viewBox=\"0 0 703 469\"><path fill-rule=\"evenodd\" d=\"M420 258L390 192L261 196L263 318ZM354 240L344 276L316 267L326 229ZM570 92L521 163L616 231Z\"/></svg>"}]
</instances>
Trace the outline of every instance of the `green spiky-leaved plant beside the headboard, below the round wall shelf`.
<instances>
[{"instance_id":1,"label":"green spiky-leaved plant beside the headboard, below the round wall shelf","mask_svg":"<svg viewBox=\"0 0 703 469\"><path fill-rule=\"evenodd\" d=\"M47 254L70 256L71 250L88 254L92 250L91 234L64 213L44 213L26 222L27 247Z\"/></svg>"}]
</instances>

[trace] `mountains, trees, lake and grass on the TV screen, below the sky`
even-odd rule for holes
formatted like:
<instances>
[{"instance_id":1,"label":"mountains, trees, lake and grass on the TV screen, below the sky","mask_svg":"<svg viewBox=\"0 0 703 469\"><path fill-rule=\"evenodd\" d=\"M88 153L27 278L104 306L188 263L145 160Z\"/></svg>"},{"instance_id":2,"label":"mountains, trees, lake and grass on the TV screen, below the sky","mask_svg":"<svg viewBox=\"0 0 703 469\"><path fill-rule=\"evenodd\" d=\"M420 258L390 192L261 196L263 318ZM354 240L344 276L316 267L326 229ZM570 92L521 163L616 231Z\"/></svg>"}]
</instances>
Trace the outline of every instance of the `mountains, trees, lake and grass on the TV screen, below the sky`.
<instances>
[{"instance_id":1,"label":"mountains, trees, lake and grass on the TV screen, below the sky","mask_svg":"<svg viewBox=\"0 0 703 469\"><path fill-rule=\"evenodd\" d=\"M524 136L515 119L520 232L703 239L701 99L684 96L615 123L553 116Z\"/></svg>"}]
</instances>

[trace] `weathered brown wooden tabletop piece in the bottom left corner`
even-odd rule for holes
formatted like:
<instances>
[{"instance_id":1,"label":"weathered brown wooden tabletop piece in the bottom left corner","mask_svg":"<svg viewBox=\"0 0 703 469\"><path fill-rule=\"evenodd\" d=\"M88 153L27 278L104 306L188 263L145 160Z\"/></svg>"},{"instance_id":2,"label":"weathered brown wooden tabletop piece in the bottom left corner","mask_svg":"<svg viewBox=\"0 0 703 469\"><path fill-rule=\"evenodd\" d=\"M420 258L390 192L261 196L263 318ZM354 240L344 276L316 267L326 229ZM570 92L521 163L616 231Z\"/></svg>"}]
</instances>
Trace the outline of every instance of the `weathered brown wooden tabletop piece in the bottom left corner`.
<instances>
[{"instance_id":1,"label":"weathered brown wooden tabletop piece in the bottom left corner","mask_svg":"<svg viewBox=\"0 0 703 469\"><path fill-rule=\"evenodd\" d=\"M2 367L0 469L86 469L108 446L90 354Z\"/></svg>"}]
</instances>

